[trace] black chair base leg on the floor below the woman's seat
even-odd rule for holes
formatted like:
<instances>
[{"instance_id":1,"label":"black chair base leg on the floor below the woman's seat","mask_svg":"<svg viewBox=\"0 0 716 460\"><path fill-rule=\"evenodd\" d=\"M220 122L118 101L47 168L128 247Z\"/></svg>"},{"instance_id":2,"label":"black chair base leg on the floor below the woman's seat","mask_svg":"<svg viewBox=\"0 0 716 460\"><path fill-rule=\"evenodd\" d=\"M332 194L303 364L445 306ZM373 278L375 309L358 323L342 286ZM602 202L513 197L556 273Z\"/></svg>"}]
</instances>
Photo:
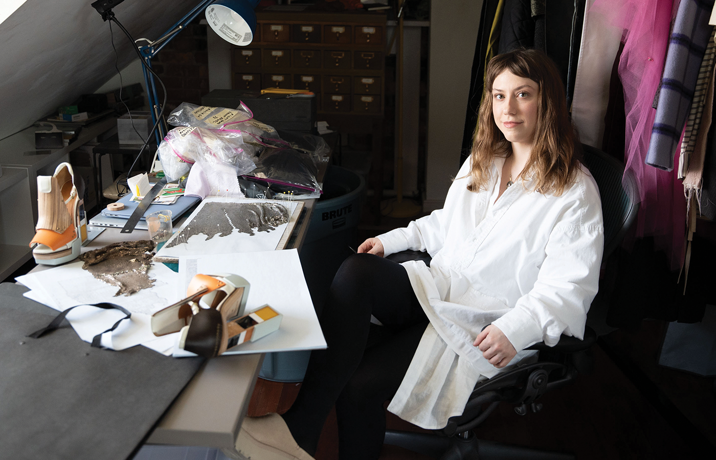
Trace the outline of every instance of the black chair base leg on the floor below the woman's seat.
<instances>
[{"instance_id":1,"label":"black chair base leg on the floor below the woman's seat","mask_svg":"<svg viewBox=\"0 0 716 460\"><path fill-rule=\"evenodd\" d=\"M442 437L407 431L385 431L384 444L399 446L440 460L574 460L563 452L541 451L478 439L472 431L465 438Z\"/></svg>"}]
</instances>

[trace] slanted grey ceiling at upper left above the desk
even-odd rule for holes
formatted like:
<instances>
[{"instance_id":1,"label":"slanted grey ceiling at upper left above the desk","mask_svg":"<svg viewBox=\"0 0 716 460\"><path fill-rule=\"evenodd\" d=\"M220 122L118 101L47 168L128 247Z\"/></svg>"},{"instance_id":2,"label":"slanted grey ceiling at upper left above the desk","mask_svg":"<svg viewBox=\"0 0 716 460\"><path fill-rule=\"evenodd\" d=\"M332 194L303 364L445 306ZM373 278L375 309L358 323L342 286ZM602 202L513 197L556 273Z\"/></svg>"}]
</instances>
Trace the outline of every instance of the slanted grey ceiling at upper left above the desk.
<instances>
[{"instance_id":1,"label":"slanted grey ceiling at upper left above the desk","mask_svg":"<svg viewBox=\"0 0 716 460\"><path fill-rule=\"evenodd\" d=\"M26 0L0 24L0 139L95 92L116 74L109 23L91 3ZM157 39L198 3L125 0L114 11L135 39ZM117 24L112 31L123 69L137 54Z\"/></svg>"}]
</instances>

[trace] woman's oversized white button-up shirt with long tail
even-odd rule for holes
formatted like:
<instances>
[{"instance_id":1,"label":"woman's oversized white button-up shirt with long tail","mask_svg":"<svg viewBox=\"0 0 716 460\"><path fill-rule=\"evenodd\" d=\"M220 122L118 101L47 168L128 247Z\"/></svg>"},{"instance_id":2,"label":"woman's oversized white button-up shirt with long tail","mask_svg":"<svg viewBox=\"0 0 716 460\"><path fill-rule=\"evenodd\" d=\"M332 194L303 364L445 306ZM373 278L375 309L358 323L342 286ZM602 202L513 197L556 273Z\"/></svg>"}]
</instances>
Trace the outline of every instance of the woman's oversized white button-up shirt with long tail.
<instances>
[{"instance_id":1,"label":"woman's oversized white button-up shirt with long tail","mask_svg":"<svg viewBox=\"0 0 716 460\"><path fill-rule=\"evenodd\" d=\"M558 197L531 192L530 179L517 181L497 199L503 164L495 158L487 190L470 192L465 161L445 207L378 237L385 255L412 249L432 256L430 268L403 264L430 326L388 407L426 429L463 413L480 378L536 353L524 348L553 346L562 333L584 337L604 246L594 178L585 168ZM518 351L501 370L473 346L490 323Z\"/></svg>"}]
</instances>

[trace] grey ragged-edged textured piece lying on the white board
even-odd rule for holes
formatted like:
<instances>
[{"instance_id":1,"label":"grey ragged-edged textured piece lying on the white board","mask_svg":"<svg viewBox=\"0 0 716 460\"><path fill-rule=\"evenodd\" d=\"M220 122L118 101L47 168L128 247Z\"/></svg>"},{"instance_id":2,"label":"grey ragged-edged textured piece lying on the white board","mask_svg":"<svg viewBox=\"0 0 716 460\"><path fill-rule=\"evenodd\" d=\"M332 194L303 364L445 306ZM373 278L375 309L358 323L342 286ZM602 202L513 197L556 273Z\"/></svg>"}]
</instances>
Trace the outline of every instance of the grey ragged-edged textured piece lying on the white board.
<instances>
[{"instance_id":1,"label":"grey ragged-edged textured piece lying on the white board","mask_svg":"<svg viewBox=\"0 0 716 460\"><path fill-rule=\"evenodd\" d=\"M207 202L176 237L166 244L167 248L187 243L193 235L206 235L211 240L216 235L228 236L236 229L253 236L259 232L276 230L289 222L289 210L274 203Z\"/></svg>"}]
</instances>

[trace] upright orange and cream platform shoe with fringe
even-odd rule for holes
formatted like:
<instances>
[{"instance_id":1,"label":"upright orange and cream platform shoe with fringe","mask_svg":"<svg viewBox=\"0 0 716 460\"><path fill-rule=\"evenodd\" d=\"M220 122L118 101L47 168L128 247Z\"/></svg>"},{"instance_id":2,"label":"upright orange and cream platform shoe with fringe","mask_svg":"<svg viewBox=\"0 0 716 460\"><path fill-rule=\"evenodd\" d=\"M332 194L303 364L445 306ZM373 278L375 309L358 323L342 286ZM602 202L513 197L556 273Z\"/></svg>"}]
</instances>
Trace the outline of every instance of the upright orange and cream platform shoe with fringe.
<instances>
[{"instance_id":1,"label":"upright orange and cream platform shoe with fringe","mask_svg":"<svg viewBox=\"0 0 716 460\"><path fill-rule=\"evenodd\" d=\"M35 262L59 265L79 256L87 240L84 183L72 165L60 163L52 176L37 177L37 226L30 246Z\"/></svg>"}]
</instances>

